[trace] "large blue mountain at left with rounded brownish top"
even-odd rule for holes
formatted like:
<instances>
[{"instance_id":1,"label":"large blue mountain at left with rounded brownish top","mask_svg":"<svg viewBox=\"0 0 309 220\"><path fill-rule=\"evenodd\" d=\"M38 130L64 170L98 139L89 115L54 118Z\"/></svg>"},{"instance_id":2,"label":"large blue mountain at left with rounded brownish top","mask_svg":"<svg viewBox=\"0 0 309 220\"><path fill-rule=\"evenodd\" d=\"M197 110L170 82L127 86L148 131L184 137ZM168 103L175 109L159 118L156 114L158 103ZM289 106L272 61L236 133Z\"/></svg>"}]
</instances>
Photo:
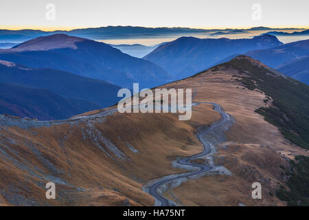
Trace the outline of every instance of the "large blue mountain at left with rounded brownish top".
<instances>
[{"instance_id":1,"label":"large blue mountain at left with rounded brownish top","mask_svg":"<svg viewBox=\"0 0 309 220\"><path fill-rule=\"evenodd\" d=\"M63 70L122 87L132 87L133 83L154 87L170 78L165 70L150 61L129 56L105 43L65 34L39 37L12 49L0 50L0 60L31 68Z\"/></svg>"}]
</instances>

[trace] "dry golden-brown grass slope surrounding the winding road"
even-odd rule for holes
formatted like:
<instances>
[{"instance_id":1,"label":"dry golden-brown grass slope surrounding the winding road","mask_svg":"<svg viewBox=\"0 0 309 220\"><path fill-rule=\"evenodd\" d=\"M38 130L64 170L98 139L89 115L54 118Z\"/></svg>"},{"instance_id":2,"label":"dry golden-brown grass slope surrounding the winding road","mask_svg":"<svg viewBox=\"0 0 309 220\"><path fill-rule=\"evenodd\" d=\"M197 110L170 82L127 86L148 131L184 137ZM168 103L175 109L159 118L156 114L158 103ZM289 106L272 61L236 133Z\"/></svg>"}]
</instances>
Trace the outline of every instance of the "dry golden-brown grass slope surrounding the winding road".
<instances>
[{"instance_id":1,"label":"dry golden-brown grass slope surrounding the winding road","mask_svg":"<svg viewBox=\"0 0 309 220\"><path fill-rule=\"evenodd\" d=\"M285 205L271 196L285 182L279 166L308 152L255 113L266 105L265 96L244 88L234 76L238 74L221 66L162 86L196 89L194 101L216 102L236 120L214 159L232 175L189 180L165 192L166 197L187 206ZM97 111L84 115L93 113ZM201 152L196 129L219 118L210 104L200 104L188 121L179 121L174 113L116 112L50 127L1 126L0 205L152 206L155 199L142 186L184 172L172 162ZM45 198L49 181L56 184L56 199ZM251 197L254 181L262 184L262 199Z\"/></svg>"}]
</instances>

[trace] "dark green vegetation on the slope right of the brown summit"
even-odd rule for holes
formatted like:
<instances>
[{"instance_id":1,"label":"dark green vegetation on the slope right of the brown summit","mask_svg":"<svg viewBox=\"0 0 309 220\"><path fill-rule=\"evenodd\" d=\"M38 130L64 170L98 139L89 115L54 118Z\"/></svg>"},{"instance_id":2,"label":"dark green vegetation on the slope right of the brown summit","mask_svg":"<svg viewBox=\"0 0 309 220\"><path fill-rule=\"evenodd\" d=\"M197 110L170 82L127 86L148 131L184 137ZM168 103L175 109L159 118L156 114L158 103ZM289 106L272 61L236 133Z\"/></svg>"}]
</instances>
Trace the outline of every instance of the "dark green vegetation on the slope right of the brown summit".
<instances>
[{"instance_id":1,"label":"dark green vegetation on the slope right of the brown summit","mask_svg":"<svg viewBox=\"0 0 309 220\"><path fill-rule=\"evenodd\" d=\"M277 126L287 140L309 149L309 86L293 78L284 78L271 69L252 65L246 56L239 57L224 65L231 65L245 74L239 77L248 89L264 91L273 100L273 107L261 107L256 112Z\"/></svg>"}]
</instances>

